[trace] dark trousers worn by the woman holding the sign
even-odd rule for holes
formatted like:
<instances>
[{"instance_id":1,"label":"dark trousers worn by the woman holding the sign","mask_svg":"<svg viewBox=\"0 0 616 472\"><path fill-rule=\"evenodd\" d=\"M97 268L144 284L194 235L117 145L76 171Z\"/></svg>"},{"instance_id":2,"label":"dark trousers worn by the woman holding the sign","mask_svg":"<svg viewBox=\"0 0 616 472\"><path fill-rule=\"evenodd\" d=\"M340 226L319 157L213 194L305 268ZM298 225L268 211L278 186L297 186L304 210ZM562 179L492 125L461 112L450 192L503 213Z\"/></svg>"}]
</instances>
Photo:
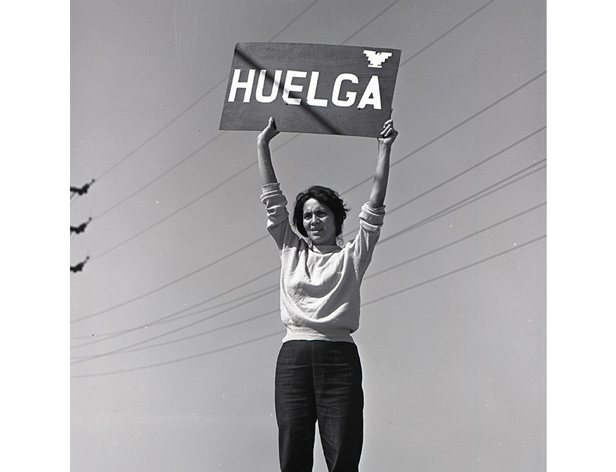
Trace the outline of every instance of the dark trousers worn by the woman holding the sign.
<instances>
[{"instance_id":1,"label":"dark trousers worn by the woman holding the sign","mask_svg":"<svg viewBox=\"0 0 616 472\"><path fill-rule=\"evenodd\" d=\"M276 420L282 472L312 470L314 425L330 472L357 472L363 390L356 345L287 341L276 364Z\"/></svg>"}]
</instances>

